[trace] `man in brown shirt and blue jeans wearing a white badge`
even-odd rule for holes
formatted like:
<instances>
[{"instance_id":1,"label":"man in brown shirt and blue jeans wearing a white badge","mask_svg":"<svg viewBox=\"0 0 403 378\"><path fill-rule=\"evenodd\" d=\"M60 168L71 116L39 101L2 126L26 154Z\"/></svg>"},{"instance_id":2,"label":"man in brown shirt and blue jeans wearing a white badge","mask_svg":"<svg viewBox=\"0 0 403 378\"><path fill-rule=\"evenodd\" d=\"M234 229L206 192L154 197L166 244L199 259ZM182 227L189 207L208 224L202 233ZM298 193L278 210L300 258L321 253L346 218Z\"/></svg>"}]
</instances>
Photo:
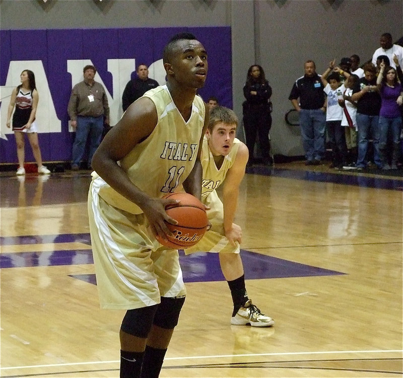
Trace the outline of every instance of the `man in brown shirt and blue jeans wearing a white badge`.
<instances>
[{"instance_id":1,"label":"man in brown shirt and blue jeans wearing a white badge","mask_svg":"<svg viewBox=\"0 0 403 378\"><path fill-rule=\"evenodd\" d=\"M84 80L74 86L69 101L71 124L76 130L73 144L73 170L80 169L88 137L90 150L87 164L91 169L92 156L101 143L104 122L109 124L108 98L102 84L94 80L96 72L94 66L84 67Z\"/></svg>"}]
</instances>

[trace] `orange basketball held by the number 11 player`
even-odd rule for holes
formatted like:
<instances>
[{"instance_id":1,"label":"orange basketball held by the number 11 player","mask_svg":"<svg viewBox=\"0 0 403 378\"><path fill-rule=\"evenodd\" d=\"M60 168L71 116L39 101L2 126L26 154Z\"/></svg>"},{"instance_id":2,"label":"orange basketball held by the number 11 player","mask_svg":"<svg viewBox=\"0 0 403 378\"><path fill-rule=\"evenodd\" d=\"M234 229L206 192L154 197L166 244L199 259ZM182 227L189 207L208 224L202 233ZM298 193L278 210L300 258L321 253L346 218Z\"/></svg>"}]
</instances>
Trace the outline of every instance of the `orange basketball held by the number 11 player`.
<instances>
[{"instance_id":1,"label":"orange basketball held by the number 11 player","mask_svg":"<svg viewBox=\"0 0 403 378\"><path fill-rule=\"evenodd\" d=\"M187 193L171 193L163 198L180 201L179 204L165 207L166 213L178 224L166 223L172 231L167 240L156 239L162 244L174 249L185 249L196 244L205 234L208 226L205 206L194 196Z\"/></svg>"}]
</instances>

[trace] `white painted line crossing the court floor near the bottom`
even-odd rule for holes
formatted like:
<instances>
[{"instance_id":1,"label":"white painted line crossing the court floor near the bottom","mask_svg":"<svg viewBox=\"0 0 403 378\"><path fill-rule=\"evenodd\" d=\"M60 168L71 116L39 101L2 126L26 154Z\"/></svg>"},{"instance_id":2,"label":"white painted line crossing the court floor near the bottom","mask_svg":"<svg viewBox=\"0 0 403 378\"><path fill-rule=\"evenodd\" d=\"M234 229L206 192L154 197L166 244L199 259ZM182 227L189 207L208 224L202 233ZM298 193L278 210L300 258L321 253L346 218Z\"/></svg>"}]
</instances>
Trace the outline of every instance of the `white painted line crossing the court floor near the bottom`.
<instances>
[{"instance_id":1,"label":"white painted line crossing the court floor near the bottom","mask_svg":"<svg viewBox=\"0 0 403 378\"><path fill-rule=\"evenodd\" d=\"M403 350L333 350L322 352L285 352L285 353L251 353L251 354L222 354L214 356L190 356L190 357L168 357L165 360L187 360L187 359L202 359L202 358L227 358L227 357L258 357L258 356L299 356L299 355L311 355L311 354L347 354L347 353L403 353ZM75 366L75 365L90 365L101 363L118 363L120 361L89 361L89 362L75 362L75 363L54 363L48 365L29 365L29 366L9 366L0 367L0 370L10 369L28 369L35 367L55 367L55 366Z\"/></svg>"}]
</instances>

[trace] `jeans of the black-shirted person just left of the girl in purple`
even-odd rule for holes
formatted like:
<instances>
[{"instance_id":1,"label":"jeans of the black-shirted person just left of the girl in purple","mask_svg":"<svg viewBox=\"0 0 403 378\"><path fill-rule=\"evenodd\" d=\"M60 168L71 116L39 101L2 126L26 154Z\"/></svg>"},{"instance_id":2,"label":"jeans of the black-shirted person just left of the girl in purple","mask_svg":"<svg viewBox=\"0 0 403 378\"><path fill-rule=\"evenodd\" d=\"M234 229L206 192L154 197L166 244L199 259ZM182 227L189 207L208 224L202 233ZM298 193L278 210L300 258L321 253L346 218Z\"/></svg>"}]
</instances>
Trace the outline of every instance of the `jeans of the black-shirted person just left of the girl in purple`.
<instances>
[{"instance_id":1,"label":"jeans of the black-shirted person just left of the girl in purple","mask_svg":"<svg viewBox=\"0 0 403 378\"><path fill-rule=\"evenodd\" d=\"M358 127L358 157L356 166L365 168L368 164L368 139L372 136L372 143L374 145L374 163L378 168L383 167L383 162L379 154L379 127L378 115L367 115L357 113L357 127Z\"/></svg>"}]
</instances>

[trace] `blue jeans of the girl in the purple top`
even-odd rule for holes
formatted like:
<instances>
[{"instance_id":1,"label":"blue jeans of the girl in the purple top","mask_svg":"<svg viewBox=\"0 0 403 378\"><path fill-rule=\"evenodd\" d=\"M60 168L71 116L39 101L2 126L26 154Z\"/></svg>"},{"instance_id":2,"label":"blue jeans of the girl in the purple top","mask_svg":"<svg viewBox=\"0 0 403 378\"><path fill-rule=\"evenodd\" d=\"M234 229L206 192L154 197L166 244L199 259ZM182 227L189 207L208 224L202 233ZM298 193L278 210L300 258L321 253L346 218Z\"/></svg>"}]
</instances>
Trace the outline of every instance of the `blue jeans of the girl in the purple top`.
<instances>
[{"instance_id":1,"label":"blue jeans of the girl in the purple top","mask_svg":"<svg viewBox=\"0 0 403 378\"><path fill-rule=\"evenodd\" d=\"M390 131L393 142L392 151L392 163L396 164L398 158L398 145L400 143L400 132L401 132L401 117L386 118L379 116L378 126L379 126L379 152L383 164L387 164L387 137Z\"/></svg>"}]
</instances>

